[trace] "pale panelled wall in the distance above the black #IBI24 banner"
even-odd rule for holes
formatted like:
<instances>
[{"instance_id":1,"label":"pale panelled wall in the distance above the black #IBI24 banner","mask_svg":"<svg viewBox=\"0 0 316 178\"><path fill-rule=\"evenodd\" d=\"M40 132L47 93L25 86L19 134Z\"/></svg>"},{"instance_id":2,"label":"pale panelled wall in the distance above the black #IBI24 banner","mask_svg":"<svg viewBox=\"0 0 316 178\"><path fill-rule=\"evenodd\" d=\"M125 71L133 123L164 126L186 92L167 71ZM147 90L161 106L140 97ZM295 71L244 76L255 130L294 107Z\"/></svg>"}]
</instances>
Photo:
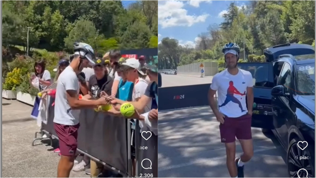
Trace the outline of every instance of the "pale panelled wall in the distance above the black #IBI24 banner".
<instances>
[{"instance_id":1,"label":"pale panelled wall in the distance above the black #IBI24 banner","mask_svg":"<svg viewBox=\"0 0 316 178\"><path fill-rule=\"evenodd\" d=\"M201 76L201 63L204 65L203 76L214 76L218 73L218 65L217 62L196 62L192 64L187 64L184 66L178 66L177 72L180 75L195 75Z\"/></svg>"}]
</instances>

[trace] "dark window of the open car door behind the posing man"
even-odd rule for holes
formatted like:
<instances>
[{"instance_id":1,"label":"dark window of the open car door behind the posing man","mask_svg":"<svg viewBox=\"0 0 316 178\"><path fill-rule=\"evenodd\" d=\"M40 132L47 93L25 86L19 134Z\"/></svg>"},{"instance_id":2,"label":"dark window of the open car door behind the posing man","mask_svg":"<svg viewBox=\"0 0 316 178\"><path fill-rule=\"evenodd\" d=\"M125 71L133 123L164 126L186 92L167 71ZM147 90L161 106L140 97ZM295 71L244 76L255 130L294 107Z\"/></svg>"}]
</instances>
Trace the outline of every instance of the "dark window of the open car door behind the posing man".
<instances>
[{"instance_id":1,"label":"dark window of the open car door behind the posing man","mask_svg":"<svg viewBox=\"0 0 316 178\"><path fill-rule=\"evenodd\" d=\"M240 69L249 71L253 78L253 86L258 87L272 87L273 78L269 79L270 67L269 63L239 63ZM273 70L273 69L271 69Z\"/></svg>"}]
</instances>

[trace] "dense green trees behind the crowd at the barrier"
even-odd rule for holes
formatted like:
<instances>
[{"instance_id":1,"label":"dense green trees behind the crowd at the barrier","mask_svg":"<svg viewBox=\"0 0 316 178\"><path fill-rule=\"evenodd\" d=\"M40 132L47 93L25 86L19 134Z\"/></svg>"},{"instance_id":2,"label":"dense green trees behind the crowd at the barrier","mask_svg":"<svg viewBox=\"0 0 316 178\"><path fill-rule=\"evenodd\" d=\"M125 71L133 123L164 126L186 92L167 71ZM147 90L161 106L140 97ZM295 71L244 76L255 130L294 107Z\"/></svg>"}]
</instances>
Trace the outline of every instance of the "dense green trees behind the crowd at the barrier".
<instances>
[{"instance_id":1,"label":"dense green trees behind the crowd at the barrier","mask_svg":"<svg viewBox=\"0 0 316 178\"><path fill-rule=\"evenodd\" d=\"M113 48L156 48L158 2L3 1L3 46L71 50L76 41L103 53ZM27 49L25 49L27 50Z\"/></svg>"}]
</instances>

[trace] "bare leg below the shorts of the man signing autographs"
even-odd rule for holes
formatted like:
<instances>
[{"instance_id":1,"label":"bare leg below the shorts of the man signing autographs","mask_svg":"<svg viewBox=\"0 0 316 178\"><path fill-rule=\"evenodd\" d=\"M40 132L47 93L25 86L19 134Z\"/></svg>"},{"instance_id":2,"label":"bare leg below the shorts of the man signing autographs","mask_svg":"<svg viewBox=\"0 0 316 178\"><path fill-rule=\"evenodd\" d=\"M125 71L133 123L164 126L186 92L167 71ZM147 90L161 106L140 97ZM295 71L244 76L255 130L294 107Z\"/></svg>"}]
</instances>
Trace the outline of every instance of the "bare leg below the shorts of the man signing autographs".
<instances>
[{"instance_id":1,"label":"bare leg below the shorts of the man signing autographs","mask_svg":"<svg viewBox=\"0 0 316 178\"><path fill-rule=\"evenodd\" d=\"M69 177L70 171L74 166L75 156L60 156L57 168L57 177Z\"/></svg>"}]
</instances>

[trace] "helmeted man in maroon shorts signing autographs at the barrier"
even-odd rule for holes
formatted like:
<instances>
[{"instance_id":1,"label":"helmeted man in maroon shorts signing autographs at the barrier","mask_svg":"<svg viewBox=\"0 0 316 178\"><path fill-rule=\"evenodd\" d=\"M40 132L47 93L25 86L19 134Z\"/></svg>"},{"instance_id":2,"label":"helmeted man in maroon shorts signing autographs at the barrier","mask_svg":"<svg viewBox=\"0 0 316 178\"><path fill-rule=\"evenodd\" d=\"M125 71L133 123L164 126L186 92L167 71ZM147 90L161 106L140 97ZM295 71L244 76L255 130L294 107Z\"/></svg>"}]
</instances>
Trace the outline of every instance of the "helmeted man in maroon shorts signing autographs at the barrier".
<instances>
[{"instance_id":1,"label":"helmeted man in maroon shorts signing autographs at the barrier","mask_svg":"<svg viewBox=\"0 0 316 178\"><path fill-rule=\"evenodd\" d=\"M106 99L79 100L77 74L82 71L82 63L94 64L94 52L86 43L74 44L75 55L70 65L59 75L55 97L54 129L59 138L60 160L57 177L69 177L74 165L80 109L106 105Z\"/></svg>"}]
</instances>

